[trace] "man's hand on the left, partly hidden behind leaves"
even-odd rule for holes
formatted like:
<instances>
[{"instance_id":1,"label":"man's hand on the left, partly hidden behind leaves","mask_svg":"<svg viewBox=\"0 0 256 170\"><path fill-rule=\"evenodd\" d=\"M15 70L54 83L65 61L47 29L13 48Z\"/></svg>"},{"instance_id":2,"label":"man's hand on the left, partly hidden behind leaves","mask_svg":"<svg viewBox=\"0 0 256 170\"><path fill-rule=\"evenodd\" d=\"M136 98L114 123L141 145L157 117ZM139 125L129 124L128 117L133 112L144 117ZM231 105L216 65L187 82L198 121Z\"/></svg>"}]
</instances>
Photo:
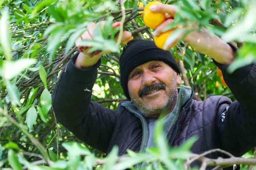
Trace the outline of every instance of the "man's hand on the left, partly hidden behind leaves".
<instances>
[{"instance_id":1,"label":"man's hand on the left, partly hidden behind leaves","mask_svg":"<svg viewBox=\"0 0 256 170\"><path fill-rule=\"evenodd\" d=\"M104 21L98 22L98 23L90 23L88 24L88 30L85 31L82 36L80 36L76 41L75 41L75 45L80 48L81 46L79 46L79 42L85 39L93 39L93 31L95 30L96 26L98 24L101 24L102 28L104 26ZM119 22L115 22L113 23L112 27L116 28L118 27L120 24ZM123 37L122 37L122 41L126 41L128 40L130 37L132 36L131 32L129 31L124 31L123 32ZM85 49L84 51L80 52L77 59L75 60L75 66L77 66L78 68L90 68L91 66L95 65L98 60L101 58L102 55L104 54L108 54L110 53L110 51L101 51L100 53L88 53L89 48Z\"/></svg>"}]
</instances>

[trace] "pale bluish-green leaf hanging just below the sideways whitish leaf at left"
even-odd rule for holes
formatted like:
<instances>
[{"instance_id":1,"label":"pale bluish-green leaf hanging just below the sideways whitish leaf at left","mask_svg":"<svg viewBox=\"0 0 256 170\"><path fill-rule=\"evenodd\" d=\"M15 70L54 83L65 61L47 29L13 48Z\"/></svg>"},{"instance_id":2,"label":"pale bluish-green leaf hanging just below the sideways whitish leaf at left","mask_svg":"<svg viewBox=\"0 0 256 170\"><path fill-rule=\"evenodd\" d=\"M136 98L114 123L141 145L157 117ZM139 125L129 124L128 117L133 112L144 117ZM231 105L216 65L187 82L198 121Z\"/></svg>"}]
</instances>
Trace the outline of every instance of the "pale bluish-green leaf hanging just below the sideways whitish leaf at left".
<instances>
[{"instance_id":1,"label":"pale bluish-green leaf hanging just below the sideways whitish leaf at left","mask_svg":"<svg viewBox=\"0 0 256 170\"><path fill-rule=\"evenodd\" d=\"M11 82L7 82L6 89L8 90L8 96L11 100L11 103L13 105L20 106L20 94L16 85L12 84Z\"/></svg>"}]
</instances>

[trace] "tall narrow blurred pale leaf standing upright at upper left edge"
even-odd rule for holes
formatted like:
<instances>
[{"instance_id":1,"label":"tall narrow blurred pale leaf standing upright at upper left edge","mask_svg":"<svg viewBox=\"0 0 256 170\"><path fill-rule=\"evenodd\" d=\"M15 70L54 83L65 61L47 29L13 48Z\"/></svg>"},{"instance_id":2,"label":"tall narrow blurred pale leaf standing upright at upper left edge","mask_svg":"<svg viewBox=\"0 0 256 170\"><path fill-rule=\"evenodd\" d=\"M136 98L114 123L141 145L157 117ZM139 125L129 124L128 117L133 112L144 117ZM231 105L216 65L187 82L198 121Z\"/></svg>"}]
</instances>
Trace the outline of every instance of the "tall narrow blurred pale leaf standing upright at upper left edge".
<instances>
[{"instance_id":1,"label":"tall narrow blurred pale leaf standing upright at upper left edge","mask_svg":"<svg viewBox=\"0 0 256 170\"><path fill-rule=\"evenodd\" d=\"M11 34L9 32L9 15L8 8L2 10L2 18L0 20L0 42L2 44L3 52L6 60L11 60Z\"/></svg>"}]
</instances>

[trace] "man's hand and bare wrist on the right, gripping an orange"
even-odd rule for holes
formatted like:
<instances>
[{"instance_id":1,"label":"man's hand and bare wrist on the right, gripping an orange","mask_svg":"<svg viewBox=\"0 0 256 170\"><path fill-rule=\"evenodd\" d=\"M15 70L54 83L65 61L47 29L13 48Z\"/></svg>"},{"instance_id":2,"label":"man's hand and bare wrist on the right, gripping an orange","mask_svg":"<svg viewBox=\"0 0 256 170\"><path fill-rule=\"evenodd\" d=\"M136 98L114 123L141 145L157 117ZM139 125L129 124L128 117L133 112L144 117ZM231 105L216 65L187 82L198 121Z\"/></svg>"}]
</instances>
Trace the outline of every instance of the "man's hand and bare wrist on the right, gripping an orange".
<instances>
[{"instance_id":1,"label":"man's hand and bare wrist on the right, gripping an orange","mask_svg":"<svg viewBox=\"0 0 256 170\"><path fill-rule=\"evenodd\" d=\"M154 31L154 36L159 36L165 28L173 22L177 8L173 5L158 3L151 5L149 8L152 12L164 12L167 20L160 24ZM197 25L192 28L197 30ZM179 29L179 27L177 27ZM188 28L187 29L191 29ZM181 36L182 37L182 36ZM180 37L180 38L181 38ZM177 39L178 40L178 39ZM184 41L192 46L196 51L211 56L215 61L221 64L230 64L235 57L232 48L216 35L210 35L209 31L202 28L200 31L193 31L184 37ZM171 48L171 44L167 45L166 50Z\"/></svg>"}]
</instances>

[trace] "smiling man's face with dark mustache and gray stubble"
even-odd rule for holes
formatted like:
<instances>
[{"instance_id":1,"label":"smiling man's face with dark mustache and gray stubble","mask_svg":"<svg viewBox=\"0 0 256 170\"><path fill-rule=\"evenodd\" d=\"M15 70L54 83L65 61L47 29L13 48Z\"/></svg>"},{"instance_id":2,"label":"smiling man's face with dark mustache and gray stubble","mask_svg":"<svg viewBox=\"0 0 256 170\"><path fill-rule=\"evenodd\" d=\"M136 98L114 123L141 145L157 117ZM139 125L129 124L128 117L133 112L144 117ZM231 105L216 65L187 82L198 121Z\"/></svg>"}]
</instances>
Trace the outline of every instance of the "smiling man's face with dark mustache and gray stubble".
<instances>
[{"instance_id":1,"label":"smiling man's face with dark mustache and gray stubble","mask_svg":"<svg viewBox=\"0 0 256 170\"><path fill-rule=\"evenodd\" d=\"M133 104L146 117L158 117L173 110L181 77L166 63L150 61L133 69L128 91Z\"/></svg>"}]
</instances>

